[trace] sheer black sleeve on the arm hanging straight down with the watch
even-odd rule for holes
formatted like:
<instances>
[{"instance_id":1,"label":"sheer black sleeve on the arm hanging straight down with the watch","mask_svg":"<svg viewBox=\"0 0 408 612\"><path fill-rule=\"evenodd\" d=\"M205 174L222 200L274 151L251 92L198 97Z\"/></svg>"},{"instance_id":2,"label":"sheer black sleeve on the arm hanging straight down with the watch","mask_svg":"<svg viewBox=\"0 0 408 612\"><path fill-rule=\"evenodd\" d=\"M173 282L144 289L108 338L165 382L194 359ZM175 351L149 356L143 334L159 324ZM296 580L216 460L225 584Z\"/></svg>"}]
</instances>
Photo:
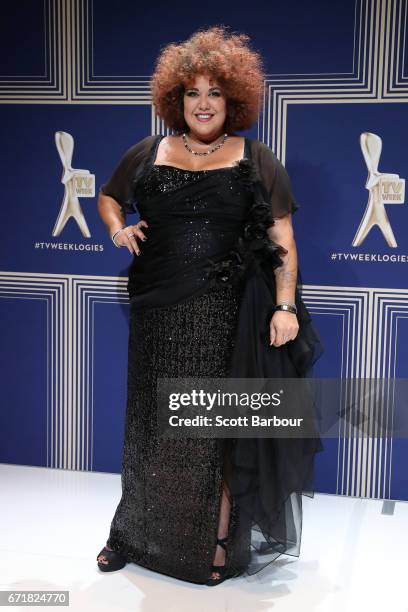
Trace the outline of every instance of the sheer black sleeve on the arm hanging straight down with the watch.
<instances>
[{"instance_id":1,"label":"sheer black sleeve on the arm hanging straight down with the watch","mask_svg":"<svg viewBox=\"0 0 408 612\"><path fill-rule=\"evenodd\" d=\"M271 205L272 217L281 218L289 213L295 213L300 208L300 204L296 202L285 166L267 145L259 141L254 142L258 168L267 201Z\"/></svg>"}]
</instances>

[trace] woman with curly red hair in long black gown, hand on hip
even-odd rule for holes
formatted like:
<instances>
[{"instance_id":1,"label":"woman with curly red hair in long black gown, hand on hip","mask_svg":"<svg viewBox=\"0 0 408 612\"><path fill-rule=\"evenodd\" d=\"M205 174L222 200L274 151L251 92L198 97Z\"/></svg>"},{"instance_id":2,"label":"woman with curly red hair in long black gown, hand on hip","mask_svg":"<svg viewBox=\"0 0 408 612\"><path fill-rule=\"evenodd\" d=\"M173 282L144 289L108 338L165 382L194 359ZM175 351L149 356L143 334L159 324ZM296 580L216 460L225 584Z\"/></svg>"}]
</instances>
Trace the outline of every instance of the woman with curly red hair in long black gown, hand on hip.
<instances>
[{"instance_id":1,"label":"woman with curly red hair in long black gown, hand on hip","mask_svg":"<svg viewBox=\"0 0 408 612\"><path fill-rule=\"evenodd\" d=\"M321 352L297 286L289 177L236 134L262 88L246 35L217 26L168 45L152 92L173 134L132 146L101 187L113 241L135 254L122 497L102 571L132 561L213 586L299 555L318 436L169 440L155 420L159 377L301 377Z\"/></svg>"}]
</instances>

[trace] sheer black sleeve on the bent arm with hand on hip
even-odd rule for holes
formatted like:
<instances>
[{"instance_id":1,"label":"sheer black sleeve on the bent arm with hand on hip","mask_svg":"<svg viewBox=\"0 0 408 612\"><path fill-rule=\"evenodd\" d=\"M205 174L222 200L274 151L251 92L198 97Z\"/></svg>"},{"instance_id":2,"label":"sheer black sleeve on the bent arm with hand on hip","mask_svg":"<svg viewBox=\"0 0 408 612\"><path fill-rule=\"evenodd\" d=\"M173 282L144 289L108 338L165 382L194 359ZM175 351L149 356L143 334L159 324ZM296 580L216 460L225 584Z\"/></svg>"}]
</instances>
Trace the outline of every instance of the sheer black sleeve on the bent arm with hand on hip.
<instances>
[{"instance_id":1,"label":"sheer black sleeve on the bent arm with hand on hip","mask_svg":"<svg viewBox=\"0 0 408 612\"><path fill-rule=\"evenodd\" d=\"M117 163L110 179L100 186L99 192L114 198L124 214L135 213L134 180L146 159L154 136L146 136L128 149Z\"/></svg>"}]
</instances>

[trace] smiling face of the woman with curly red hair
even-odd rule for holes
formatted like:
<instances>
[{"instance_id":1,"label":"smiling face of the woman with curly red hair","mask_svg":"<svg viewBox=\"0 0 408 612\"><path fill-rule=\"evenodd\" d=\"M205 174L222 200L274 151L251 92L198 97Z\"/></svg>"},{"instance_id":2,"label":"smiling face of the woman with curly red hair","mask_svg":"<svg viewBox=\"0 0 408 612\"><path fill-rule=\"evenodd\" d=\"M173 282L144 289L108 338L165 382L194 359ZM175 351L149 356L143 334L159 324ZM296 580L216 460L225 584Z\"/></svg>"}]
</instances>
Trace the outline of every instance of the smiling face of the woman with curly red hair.
<instances>
[{"instance_id":1,"label":"smiling face of the woman with curly red hair","mask_svg":"<svg viewBox=\"0 0 408 612\"><path fill-rule=\"evenodd\" d=\"M223 133L227 101L217 81L197 75L184 92L184 118L191 136L211 142Z\"/></svg>"}]
</instances>

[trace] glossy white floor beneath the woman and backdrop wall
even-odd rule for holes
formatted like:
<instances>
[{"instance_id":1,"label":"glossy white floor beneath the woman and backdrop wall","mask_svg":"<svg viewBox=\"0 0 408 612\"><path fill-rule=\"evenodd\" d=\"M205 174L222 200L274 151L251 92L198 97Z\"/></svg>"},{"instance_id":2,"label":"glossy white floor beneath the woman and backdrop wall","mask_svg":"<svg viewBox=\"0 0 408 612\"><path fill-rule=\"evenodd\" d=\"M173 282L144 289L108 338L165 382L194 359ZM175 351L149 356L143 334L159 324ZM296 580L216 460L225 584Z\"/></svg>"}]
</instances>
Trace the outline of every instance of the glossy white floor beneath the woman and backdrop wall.
<instances>
[{"instance_id":1,"label":"glossy white floor beneath the woman and backdrop wall","mask_svg":"<svg viewBox=\"0 0 408 612\"><path fill-rule=\"evenodd\" d=\"M382 501L303 497L299 558L209 588L135 564L99 571L117 474L0 464L0 484L0 591L68 590L81 612L408 612L406 502L384 514Z\"/></svg>"}]
</instances>

